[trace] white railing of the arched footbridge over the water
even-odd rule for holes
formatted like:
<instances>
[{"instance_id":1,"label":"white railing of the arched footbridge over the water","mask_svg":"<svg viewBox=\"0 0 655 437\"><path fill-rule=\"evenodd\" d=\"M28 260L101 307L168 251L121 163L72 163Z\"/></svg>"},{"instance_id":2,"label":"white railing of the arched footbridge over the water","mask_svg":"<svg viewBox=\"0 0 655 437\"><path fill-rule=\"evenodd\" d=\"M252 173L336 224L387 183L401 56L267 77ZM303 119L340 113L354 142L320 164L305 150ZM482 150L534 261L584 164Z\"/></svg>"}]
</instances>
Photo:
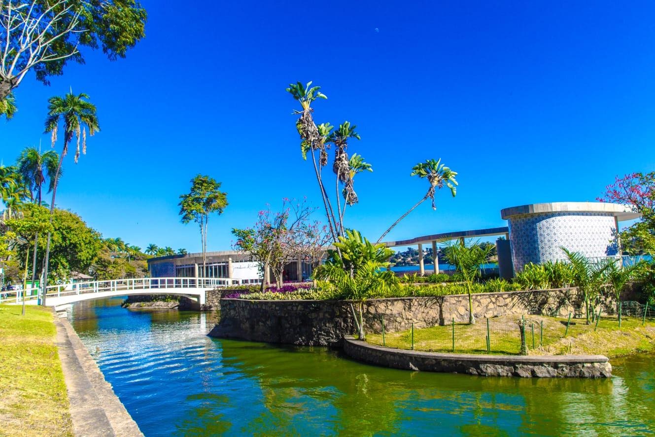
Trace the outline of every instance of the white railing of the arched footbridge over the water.
<instances>
[{"instance_id":1,"label":"white railing of the arched footbridge over the water","mask_svg":"<svg viewBox=\"0 0 655 437\"><path fill-rule=\"evenodd\" d=\"M231 278L125 278L113 280L94 280L88 282L74 282L69 284L56 284L47 287L48 297L62 297L75 294L88 294L100 292L125 292L129 294L134 290L170 289L196 289L211 290L212 288L227 287L240 284L240 280ZM20 303L25 295L26 301L39 299L38 288L26 290L10 290L0 294L0 303Z\"/></svg>"}]
</instances>

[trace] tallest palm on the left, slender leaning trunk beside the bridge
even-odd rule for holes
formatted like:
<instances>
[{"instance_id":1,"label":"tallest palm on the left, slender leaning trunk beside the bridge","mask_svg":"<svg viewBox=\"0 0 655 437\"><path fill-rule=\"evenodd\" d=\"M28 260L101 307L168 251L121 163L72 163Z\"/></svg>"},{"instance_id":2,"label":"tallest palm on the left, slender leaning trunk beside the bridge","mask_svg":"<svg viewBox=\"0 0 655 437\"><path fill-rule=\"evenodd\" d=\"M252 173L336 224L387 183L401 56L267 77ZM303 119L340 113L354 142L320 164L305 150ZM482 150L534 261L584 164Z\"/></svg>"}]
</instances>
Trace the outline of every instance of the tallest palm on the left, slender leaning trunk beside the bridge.
<instances>
[{"instance_id":1,"label":"tallest palm on the left, slender leaning trunk beside the bridge","mask_svg":"<svg viewBox=\"0 0 655 437\"><path fill-rule=\"evenodd\" d=\"M54 185L52 186L52 202L50 202L50 223L54 214L55 197L57 195L57 186L59 183L59 174L62 169L62 162L68 153L68 145L77 138L77 147L75 149L75 162L80 155L80 142L82 143L82 153L86 153L86 130L90 136L93 136L100 130L98 125L98 115L96 115L96 106L86 100L87 94L67 93L64 97L54 96L48 99L48 117L45 121L45 132L50 132L52 138L52 147L57 142L57 134L60 129L60 123L64 123L64 147L54 174ZM52 234L48 232L48 242L45 249L45 261L43 267L43 301L45 305L45 293L48 283L48 261L50 260L50 238Z\"/></svg>"}]
</instances>

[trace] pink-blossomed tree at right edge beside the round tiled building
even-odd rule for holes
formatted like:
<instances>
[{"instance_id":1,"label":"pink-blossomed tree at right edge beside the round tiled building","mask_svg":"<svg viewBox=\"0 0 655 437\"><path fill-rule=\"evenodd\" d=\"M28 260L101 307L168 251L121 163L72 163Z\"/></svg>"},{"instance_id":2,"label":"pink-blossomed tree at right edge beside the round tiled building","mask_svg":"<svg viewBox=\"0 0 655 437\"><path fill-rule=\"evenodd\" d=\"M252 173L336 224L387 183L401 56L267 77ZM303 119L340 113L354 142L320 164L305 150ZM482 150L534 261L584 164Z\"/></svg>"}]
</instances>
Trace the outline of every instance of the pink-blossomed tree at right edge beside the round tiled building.
<instances>
[{"instance_id":1,"label":"pink-blossomed tree at right edge beside the round tiled building","mask_svg":"<svg viewBox=\"0 0 655 437\"><path fill-rule=\"evenodd\" d=\"M616 177L600 202L631 205L642 218L621 232L624 250L631 254L655 253L655 172Z\"/></svg>"}]
</instances>

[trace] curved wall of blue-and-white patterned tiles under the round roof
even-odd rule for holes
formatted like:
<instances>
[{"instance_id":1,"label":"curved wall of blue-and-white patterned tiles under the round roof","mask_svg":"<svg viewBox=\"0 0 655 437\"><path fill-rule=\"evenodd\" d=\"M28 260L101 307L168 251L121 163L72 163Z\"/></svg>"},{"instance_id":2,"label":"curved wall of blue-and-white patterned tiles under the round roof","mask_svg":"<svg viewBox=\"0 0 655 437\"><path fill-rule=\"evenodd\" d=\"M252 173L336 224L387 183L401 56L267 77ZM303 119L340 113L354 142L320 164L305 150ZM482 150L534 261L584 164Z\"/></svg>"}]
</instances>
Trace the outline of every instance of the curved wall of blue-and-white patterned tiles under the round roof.
<instances>
[{"instance_id":1,"label":"curved wall of blue-and-white patterned tiles under the round roof","mask_svg":"<svg viewBox=\"0 0 655 437\"><path fill-rule=\"evenodd\" d=\"M565 259L561 247L586 257L618 253L616 221L612 214L548 212L508 219L515 271L527 263Z\"/></svg>"}]
</instances>

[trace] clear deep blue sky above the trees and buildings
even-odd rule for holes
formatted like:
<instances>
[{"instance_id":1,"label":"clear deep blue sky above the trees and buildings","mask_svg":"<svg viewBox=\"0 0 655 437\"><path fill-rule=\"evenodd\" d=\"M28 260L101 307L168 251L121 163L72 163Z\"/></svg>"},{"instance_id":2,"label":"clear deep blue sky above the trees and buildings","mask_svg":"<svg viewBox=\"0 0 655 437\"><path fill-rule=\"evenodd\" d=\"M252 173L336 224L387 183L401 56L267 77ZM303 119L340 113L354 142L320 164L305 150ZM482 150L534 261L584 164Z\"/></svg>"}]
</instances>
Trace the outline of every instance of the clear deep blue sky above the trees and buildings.
<instances>
[{"instance_id":1,"label":"clear deep blue sky above the trees and buildings","mask_svg":"<svg viewBox=\"0 0 655 437\"><path fill-rule=\"evenodd\" d=\"M350 152L375 171L358 176L346 225L373 240L424 195L409 173L427 158L459 172L458 195L438 193L390 239L504 225L501 208L594 200L616 175L655 170L654 3L272 3L143 0L147 37L128 58L87 51L52 86L26 78L0 157L49 147L47 98L86 92L102 132L79 164L67 157L58 206L105 237L193 252L177 204L196 173L230 203L210 250L267 203L320 205L291 81L322 86L318 122L358 125Z\"/></svg>"}]
</instances>

